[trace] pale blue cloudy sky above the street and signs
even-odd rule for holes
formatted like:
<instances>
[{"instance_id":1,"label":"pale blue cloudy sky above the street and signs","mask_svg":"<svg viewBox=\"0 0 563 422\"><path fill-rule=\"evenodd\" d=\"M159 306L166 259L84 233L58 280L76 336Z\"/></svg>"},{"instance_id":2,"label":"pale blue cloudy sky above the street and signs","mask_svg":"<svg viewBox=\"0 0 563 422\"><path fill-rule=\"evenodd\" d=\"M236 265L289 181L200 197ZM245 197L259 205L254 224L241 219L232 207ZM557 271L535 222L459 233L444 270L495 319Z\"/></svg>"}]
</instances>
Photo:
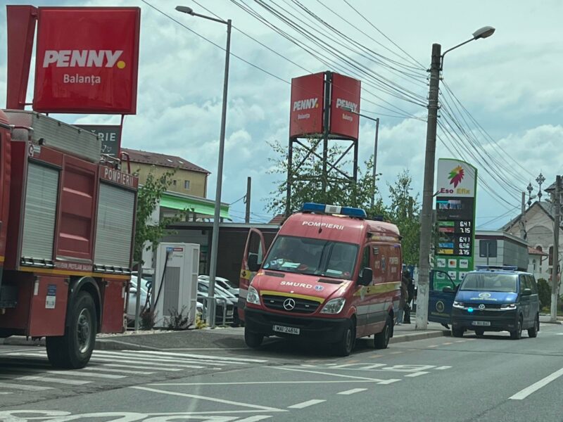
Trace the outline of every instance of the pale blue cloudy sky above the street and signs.
<instances>
[{"instance_id":1,"label":"pale blue cloudy sky above the street and signs","mask_svg":"<svg viewBox=\"0 0 563 422\"><path fill-rule=\"evenodd\" d=\"M240 199L246 193L247 177L252 177L253 186L251 221L262 223L273 217L267 204L283 177L272 174L280 157L270 144L288 141L291 78L324 70L360 79L360 112L380 119L377 172L381 172L378 187L384 202L388 202L387 185L403 170L410 172L412 192L422 200L431 46L441 44L445 51L486 25L496 29L492 37L469 42L445 56L436 158L457 158L477 167L478 229L498 229L516 217L521 191L531 183L532 195L538 193L535 179L540 172L546 179L543 188L563 172L559 148L563 3L558 0L265 3L299 30L318 37L322 46L329 46L328 52L312 46L310 38L270 13L261 1L177 1L198 13L230 18L234 25L222 201L233 204L235 222L244 218ZM209 170L208 198L214 199L224 25L179 13L177 4L168 0L60 0L33 5L141 8L137 115L125 118L122 146L179 155ZM0 22L5 21L2 7ZM33 75L28 101L32 88ZM0 98L6 98L5 30L0 31ZM0 103L5 105L4 100ZM55 117L76 124L118 124L120 119L116 115ZM360 120L360 162L373 153L374 131L372 120ZM544 193L543 199L547 196Z\"/></svg>"}]
</instances>

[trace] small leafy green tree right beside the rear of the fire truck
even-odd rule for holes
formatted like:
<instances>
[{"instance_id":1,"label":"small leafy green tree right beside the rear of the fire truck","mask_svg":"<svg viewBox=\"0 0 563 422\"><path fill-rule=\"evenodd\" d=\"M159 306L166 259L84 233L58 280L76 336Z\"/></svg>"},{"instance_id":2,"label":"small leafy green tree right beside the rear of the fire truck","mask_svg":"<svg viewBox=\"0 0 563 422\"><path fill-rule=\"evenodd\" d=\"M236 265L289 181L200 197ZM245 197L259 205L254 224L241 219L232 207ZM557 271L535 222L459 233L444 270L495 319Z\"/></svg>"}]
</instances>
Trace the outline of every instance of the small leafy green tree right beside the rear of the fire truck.
<instances>
[{"instance_id":1,"label":"small leafy green tree right beside the rear of the fire truck","mask_svg":"<svg viewBox=\"0 0 563 422\"><path fill-rule=\"evenodd\" d=\"M166 227L182 219L182 215L176 215L175 217L160 219L155 225L150 224L151 215L163 193L172 184L172 177L175 173L176 170L170 170L160 177L155 177L151 170L146 177L145 184L139 188L133 248L133 260L135 262L141 262L143 247L146 243L148 243L147 250L148 248L156 248L160 239L167 233Z\"/></svg>"}]
</instances>

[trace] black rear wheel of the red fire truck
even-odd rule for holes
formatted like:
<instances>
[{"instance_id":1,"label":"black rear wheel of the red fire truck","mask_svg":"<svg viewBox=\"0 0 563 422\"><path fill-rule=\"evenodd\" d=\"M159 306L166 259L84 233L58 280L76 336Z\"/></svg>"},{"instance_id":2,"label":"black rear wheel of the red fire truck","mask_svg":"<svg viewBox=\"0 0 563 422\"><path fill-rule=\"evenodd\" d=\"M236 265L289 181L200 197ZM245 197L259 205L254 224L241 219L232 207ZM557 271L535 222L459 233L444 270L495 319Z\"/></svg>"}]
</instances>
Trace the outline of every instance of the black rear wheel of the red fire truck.
<instances>
[{"instance_id":1,"label":"black rear wheel of the red fire truck","mask_svg":"<svg viewBox=\"0 0 563 422\"><path fill-rule=\"evenodd\" d=\"M65 335L46 338L49 362L57 368L84 368L94 350L96 331L94 300L89 293L80 292L68 308Z\"/></svg>"}]
</instances>

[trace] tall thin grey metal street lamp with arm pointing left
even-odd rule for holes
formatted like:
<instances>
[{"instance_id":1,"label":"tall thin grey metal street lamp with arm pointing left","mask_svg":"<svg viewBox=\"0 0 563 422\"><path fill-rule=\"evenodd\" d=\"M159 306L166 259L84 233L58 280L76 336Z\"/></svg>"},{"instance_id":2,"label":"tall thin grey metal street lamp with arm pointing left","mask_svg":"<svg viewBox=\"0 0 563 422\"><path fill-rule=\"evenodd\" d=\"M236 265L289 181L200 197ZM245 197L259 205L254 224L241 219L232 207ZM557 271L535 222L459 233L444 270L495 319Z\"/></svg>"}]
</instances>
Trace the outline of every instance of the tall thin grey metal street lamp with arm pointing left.
<instances>
[{"instance_id":1,"label":"tall thin grey metal street lamp with arm pointing left","mask_svg":"<svg viewBox=\"0 0 563 422\"><path fill-rule=\"evenodd\" d=\"M227 25L227 47L224 58L224 81L223 81L223 107L221 112L221 134L219 138L219 161L217 163L217 189L215 191L215 214L213 216L213 234L211 237L211 256L209 268L209 293L208 298L213 304L208 308L207 324L210 328L215 328L215 276L217 275L217 249L219 247L219 221L221 212L221 185L223 178L223 155L224 155L224 132L227 117L227 87L229 84L229 56L231 49L231 20L212 18L211 16L195 13L192 8L186 6L176 6L176 10L188 15L198 16L198 18L213 20Z\"/></svg>"}]
</instances>

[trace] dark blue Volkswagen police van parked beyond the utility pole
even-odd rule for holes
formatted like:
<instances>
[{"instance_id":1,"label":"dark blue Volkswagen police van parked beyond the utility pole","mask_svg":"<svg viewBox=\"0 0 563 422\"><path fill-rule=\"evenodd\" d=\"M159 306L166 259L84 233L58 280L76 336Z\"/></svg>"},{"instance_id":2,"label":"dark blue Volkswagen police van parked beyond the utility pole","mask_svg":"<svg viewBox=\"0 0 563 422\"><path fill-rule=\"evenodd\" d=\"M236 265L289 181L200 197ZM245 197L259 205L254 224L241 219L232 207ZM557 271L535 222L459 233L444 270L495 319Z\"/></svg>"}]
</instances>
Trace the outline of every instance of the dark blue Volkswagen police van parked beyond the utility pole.
<instances>
[{"instance_id":1,"label":"dark blue Volkswagen police van parked beyond the utility pole","mask_svg":"<svg viewBox=\"0 0 563 422\"><path fill-rule=\"evenodd\" d=\"M478 266L459 286L445 286L442 293L453 298L448 322L454 337L462 337L465 331L478 336L485 331L508 331L514 340L521 338L523 330L529 337L538 335L536 279L517 267Z\"/></svg>"}]
</instances>

